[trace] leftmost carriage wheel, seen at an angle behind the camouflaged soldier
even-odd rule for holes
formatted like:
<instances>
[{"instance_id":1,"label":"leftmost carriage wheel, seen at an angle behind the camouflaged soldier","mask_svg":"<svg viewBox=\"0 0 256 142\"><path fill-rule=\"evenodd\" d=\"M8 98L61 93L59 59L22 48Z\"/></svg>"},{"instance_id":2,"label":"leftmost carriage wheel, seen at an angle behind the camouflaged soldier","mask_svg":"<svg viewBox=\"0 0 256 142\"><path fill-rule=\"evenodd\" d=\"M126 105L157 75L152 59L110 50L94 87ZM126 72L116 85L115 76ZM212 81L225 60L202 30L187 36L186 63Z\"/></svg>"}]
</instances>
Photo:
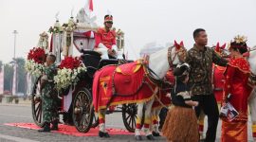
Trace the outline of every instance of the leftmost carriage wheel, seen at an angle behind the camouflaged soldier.
<instances>
[{"instance_id":1,"label":"leftmost carriage wheel, seen at an angle behind the camouflaged soldier","mask_svg":"<svg viewBox=\"0 0 256 142\"><path fill-rule=\"evenodd\" d=\"M33 86L33 92L31 95L31 107L32 107L32 116L34 119L34 122L39 127L44 127L44 121L43 121L43 108L42 108L42 98L40 95L40 80L41 77L39 77Z\"/></svg>"}]
</instances>

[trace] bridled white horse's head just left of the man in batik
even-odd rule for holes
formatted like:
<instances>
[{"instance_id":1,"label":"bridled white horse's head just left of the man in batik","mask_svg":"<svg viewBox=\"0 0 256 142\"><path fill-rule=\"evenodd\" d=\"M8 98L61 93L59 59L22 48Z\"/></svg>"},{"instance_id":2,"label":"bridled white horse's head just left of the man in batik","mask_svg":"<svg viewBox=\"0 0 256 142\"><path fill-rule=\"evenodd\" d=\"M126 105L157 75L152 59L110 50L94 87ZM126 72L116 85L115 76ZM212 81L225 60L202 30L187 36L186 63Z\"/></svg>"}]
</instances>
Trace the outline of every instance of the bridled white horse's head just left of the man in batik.
<instances>
[{"instance_id":1,"label":"bridled white horse's head just left of the man in batik","mask_svg":"<svg viewBox=\"0 0 256 142\"><path fill-rule=\"evenodd\" d=\"M181 41L180 44L177 44L177 42L174 41L174 45L168 49L168 62L170 67L185 62L186 56L187 49L184 47L183 42Z\"/></svg>"}]
</instances>

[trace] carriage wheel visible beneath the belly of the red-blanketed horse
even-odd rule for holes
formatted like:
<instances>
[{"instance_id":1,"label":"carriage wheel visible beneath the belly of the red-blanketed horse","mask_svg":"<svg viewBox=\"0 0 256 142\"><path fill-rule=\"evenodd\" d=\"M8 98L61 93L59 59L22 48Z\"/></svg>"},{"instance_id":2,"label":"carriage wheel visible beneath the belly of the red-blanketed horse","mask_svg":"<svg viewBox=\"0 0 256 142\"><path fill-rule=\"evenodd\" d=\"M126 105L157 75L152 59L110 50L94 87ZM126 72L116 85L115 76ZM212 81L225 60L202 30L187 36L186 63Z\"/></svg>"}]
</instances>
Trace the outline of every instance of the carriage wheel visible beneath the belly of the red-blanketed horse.
<instances>
[{"instance_id":1,"label":"carriage wheel visible beneath the belly of the red-blanketed horse","mask_svg":"<svg viewBox=\"0 0 256 142\"><path fill-rule=\"evenodd\" d=\"M144 108L143 108L143 112ZM123 104L122 105L122 120L125 128L130 133L135 133L136 129L136 119L137 119L137 104L131 103L131 104ZM144 123L144 113L142 115L141 119L141 125Z\"/></svg>"}]
</instances>

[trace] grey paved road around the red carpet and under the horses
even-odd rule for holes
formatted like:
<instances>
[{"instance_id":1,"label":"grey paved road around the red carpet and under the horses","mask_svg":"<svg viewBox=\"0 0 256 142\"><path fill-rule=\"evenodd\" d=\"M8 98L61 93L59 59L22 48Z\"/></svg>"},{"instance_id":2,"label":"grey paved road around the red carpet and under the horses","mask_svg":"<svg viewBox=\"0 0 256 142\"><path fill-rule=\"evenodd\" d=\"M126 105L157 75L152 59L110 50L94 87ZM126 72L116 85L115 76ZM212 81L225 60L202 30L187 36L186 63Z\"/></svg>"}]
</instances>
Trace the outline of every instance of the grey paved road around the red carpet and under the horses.
<instances>
[{"instance_id":1,"label":"grey paved road around the red carpet and under the horses","mask_svg":"<svg viewBox=\"0 0 256 142\"><path fill-rule=\"evenodd\" d=\"M61 133L38 133L36 130L28 130L17 127L10 127L4 125L5 123L27 122L32 123L31 109L29 104L3 104L0 103L0 142L69 142L69 141L82 141L82 142L132 142L135 141L134 135L111 135L110 138L103 139L98 136L72 136ZM207 122L207 120L206 120ZM220 140L221 133L221 121L219 121L217 139ZM248 122L248 141L252 141L251 136L251 122ZM107 128L122 128L124 125L122 122L121 114L116 113L107 115L106 118ZM205 126L207 127L207 126ZM206 130L206 128L205 128ZM144 140L143 141L147 141ZM166 141L165 138L156 138L157 142Z\"/></svg>"}]
</instances>

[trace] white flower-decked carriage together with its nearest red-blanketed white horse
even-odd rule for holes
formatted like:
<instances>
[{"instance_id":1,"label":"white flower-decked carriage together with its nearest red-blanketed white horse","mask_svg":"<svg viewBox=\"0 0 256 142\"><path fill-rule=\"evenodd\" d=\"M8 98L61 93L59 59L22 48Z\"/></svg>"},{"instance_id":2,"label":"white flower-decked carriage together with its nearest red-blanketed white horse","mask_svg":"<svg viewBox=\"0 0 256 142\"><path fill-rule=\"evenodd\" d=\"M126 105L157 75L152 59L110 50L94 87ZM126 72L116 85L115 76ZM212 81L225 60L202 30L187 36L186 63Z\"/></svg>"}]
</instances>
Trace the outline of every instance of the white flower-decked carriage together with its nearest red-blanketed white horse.
<instances>
[{"instance_id":1,"label":"white flower-decked carriage together with its nearest red-blanketed white horse","mask_svg":"<svg viewBox=\"0 0 256 142\"><path fill-rule=\"evenodd\" d=\"M170 98L166 97L166 91L163 89L166 83L162 79L167 75L170 68L185 60L186 48L183 42L180 44L174 42L172 47L161 49L144 60L130 61L130 63L127 63L128 65L125 64L127 66L117 65L129 61L125 59L102 60L101 54L92 50L95 43L94 33L96 29L93 17L86 15L83 9L80 10L77 16L77 22L74 22L71 17L67 24L61 26L57 19L54 27L50 27L49 30L51 33L50 45L48 45L46 32L40 35L38 47L40 48L40 54L44 53L44 55L39 59L38 54L32 55L32 58L27 58L27 60L30 59L27 65L28 70L30 69L30 71L32 70L37 75L42 76L44 62L40 60L44 59L45 51L54 54L57 57L57 63L61 62L61 65L69 57L72 60L72 56L77 52L81 56L80 62L82 62L79 65L86 68L86 71L81 76L77 76L78 79L74 77L77 81L68 84L67 88L61 89L58 93L58 112L59 115L64 115L64 123L74 125L82 133L88 132L90 128L97 127L101 123L99 135L101 136L100 133L103 133L103 136L107 137L108 134L105 131L104 120L102 121L102 119L105 117L107 108L115 106L116 110L114 112L122 113L124 126L129 132L135 132L138 139L141 139L139 138L140 131L144 125L147 138L154 139L149 129L152 115L155 117L155 131L159 136L157 115L159 115L160 108L171 103ZM123 43L123 32L118 30L118 52L123 52ZM41 52L42 49L44 51ZM34 50L37 49L34 48ZM30 52L33 53L34 50ZM64 55L64 60L61 53ZM37 58L37 60L31 61L33 58ZM62 69L60 66L59 70ZM66 69L65 67L67 66L63 68ZM57 76L59 76L59 70ZM70 68L66 70L68 71L64 71L65 73L72 72ZM60 72L63 73L63 71ZM101 81L101 78L104 78L101 73L108 76L108 80ZM41 76L37 76L38 78L34 82L31 105L35 123L43 127L42 106L44 102L40 92ZM63 81L62 78L66 77L59 76L58 78ZM69 81L64 80L63 83L66 84ZM58 81L56 84L58 88ZM166 86L168 88L169 84L167 83ZM104 99L103 96L107 99L102 100ZM170 101L166 101L166 104L164 104L165 102L161 102L162 98ZM101 102L99 104L93 103L94 100ZM155 103L155 101L158 103ZM101 113L101 110L103 113ZM113 110L111 109L108 112L111 113Z\"/></svg>"}]
</instances>

